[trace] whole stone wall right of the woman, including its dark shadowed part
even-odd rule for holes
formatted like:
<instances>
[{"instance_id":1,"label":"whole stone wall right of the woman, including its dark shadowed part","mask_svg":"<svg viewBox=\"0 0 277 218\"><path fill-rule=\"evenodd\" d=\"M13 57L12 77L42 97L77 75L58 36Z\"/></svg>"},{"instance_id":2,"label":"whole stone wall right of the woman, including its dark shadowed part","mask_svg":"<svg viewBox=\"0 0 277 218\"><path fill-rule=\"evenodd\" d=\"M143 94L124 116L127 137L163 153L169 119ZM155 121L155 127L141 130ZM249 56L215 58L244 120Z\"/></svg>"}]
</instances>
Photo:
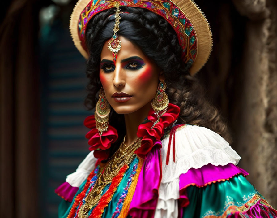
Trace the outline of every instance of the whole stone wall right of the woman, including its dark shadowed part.
<instances>
[{"instance_id":1,"label":"whole stone wall right of the woman, including its dark shadowed part","mask_svg":"<svg viewBox=\"0 0 277 218\"><path fill-rule=\"evenodd\" d=\"M214 36L197 76L227 118L239 166L277 208L277 2L196 2Z\"/></svg>"}]
</instances>

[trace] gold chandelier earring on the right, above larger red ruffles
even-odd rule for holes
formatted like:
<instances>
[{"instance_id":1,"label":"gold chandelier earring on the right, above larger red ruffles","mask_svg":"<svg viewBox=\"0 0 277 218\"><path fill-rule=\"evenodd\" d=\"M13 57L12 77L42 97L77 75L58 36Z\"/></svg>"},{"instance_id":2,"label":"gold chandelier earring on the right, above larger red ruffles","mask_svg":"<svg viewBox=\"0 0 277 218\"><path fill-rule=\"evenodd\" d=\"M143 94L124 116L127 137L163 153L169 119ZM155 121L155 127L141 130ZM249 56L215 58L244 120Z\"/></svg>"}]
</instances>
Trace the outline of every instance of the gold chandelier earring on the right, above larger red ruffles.
<instances>
[{"instance_id":1,"label":"gold chandelier earring on the right, above larger red ruffles","mask_svg":"<svg viewBox=\"0 0 277 218\"><path fill-rule=\"evenodd\" d=\"M151 107L158 116L158 119L154 122L151 129L160 121L160 117L167 111L169 100L168 95L165 93L166 84L161 81L158 85L158 89L155 97L152 100Z\"/></svg>"}]
</instances>

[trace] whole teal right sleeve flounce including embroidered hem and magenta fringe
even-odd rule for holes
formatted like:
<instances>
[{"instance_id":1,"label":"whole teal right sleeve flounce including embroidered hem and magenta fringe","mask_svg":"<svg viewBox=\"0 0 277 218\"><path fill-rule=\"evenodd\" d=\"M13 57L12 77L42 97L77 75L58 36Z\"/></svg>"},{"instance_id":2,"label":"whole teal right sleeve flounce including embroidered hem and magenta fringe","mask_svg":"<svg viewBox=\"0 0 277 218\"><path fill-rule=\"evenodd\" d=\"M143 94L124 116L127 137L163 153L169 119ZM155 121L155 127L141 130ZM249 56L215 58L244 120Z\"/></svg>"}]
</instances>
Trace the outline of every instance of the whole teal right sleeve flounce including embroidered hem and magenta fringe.
<instances>
[{"instance_id":1,"label":"whole teal right sleeve flounce including embroidered hem and magenta fringe","mask_svg":"<svg viewBox=\"0 0 277 218\"><path fill-rule=\"evenodd\" d=\"M277 217L277 211L241 174L202 188L190 186L187 197L190 203L181 210L183 218Z\"/></svg>"}]
</instances>

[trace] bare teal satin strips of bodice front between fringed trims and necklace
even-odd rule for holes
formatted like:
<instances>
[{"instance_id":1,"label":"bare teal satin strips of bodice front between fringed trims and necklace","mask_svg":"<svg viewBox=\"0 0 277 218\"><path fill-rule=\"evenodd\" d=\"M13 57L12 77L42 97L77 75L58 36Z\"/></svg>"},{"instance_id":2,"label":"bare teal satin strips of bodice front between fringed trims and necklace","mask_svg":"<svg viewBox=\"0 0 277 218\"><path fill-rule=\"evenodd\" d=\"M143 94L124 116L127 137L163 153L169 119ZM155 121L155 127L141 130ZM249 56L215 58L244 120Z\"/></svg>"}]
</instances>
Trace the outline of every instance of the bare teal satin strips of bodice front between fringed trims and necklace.
<instances>
[{"instance_id":1,"label":"bare teal satin strips of bodice front between fringed trims and necklace","mask_svg":"<svg viewBox=\"0 0 277 218\"><path fill-rule=\"evenodd\" d=\"M132 173L133 167L136 163L139 163L139 159L136 157L132 163L130 163L129 168L126 170L125 175L123 176L117 190L115 191L112 200L110 201L110 203L108 204L108 206L104 209L102 218L111 218L113 213L115 212L115 209L117 207L117 202L121 196L121 193L123 192L123 189L126 187L127 182L128 182L128 178L130 176L130 174ZM85 180L82 185L80 186L79 190L77 191L77 193L75 194L74 198L83 191L83 188L86 184ZM103 194L109 189L109 185L106 186L103 190ZM72 207L72 204L74 203L74 201L72 203L62 200L62 202L59 205L59 211L58 211L58 217L59 218L66 218L70 212L70 209Z\"/></svg>"}]
</instances>

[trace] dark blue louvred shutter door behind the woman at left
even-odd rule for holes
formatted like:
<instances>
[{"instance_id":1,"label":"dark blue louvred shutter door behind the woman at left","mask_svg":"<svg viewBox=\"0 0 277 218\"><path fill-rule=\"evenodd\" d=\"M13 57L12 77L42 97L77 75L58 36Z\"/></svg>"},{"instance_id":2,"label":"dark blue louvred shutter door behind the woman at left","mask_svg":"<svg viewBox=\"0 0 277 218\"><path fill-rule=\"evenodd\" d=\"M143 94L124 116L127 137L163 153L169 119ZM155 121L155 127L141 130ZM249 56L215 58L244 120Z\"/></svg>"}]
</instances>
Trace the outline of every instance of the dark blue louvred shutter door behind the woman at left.
<instances>
[{"instance_id":1,"label":"dark blue louvred shutter door behind the woman at left","mask_svg":"<svg viewBox=\"0 0 277 218\"><path fill-rule=\"evenodd\" d=\"M83 120L92 111L86 96L85 59L75 48L69 30L59 21L45 26L41 37L41 217L57 217L61 198L54 193L66 175L87 155ZM42 33L44 29L42 28ZM46 32L47 32L46 31Z\"/></svg>"}]
</instances>

